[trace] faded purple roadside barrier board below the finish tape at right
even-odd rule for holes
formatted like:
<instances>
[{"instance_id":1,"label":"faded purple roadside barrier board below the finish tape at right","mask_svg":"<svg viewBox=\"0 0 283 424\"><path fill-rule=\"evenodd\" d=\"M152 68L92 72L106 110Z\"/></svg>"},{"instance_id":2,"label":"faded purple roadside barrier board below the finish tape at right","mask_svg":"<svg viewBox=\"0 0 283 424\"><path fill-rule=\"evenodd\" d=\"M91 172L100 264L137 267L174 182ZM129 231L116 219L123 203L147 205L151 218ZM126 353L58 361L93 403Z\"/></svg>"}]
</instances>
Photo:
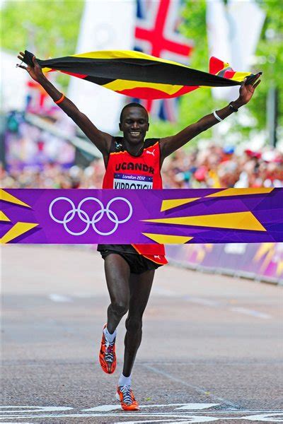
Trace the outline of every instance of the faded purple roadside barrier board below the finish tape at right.
<instances>
[{"instance_id":1,"label":"faded purple roadside barrier board below the finish tape at right","mask_svg":"<svg viewBox=\"0 0 283 424\"><path fill-rule=\"evenodd\" d=\"M283 243L168 245L166 254L188 268L283 284Z\"/></svg>"}]
</instances>

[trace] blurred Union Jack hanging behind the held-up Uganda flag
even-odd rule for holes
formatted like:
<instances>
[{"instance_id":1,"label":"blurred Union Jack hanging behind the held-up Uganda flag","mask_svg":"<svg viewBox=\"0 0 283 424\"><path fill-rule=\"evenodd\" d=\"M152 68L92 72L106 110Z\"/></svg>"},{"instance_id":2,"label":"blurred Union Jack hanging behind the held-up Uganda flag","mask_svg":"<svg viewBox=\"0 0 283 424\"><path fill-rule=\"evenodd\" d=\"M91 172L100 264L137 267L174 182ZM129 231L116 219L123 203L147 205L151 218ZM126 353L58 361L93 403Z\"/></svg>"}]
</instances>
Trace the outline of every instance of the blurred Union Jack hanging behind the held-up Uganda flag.
<instances>
[{"instance_id":1,"label":"blurred Union Jack hanging behind the held-up Uganda flag","mask_svg":"<svg viewBox=\"0 0 283 424\"><path fill-rule=\"evenodd\" d=\"M182 0L137 0L134 49L156 57L188 64L192 41L178 32ZM140 100L137 100L140 101ZM178 98L142 101L151 114L174 122Z\"/></svg>"}]
</instances>

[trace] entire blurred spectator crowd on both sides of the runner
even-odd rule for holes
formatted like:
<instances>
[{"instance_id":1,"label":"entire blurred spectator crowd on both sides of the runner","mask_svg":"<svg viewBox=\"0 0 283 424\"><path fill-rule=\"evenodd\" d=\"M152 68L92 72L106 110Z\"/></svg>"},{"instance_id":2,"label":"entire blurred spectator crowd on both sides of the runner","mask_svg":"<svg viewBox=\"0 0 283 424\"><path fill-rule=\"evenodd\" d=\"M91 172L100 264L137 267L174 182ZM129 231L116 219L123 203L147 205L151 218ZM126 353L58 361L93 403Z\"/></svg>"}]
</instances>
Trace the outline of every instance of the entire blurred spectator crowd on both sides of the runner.
<instances>
[{"instance_id":1,"label":"entire blurred spectator crowd on both sides of the runner","mask_svg":"<svg viewBox=\"0 0 283 424\"><path fill-rule=\"evenodd\" d=\"M64 167L57 163L29 165L23 170L1 167L1 186L6 188L101 188L103 160L88 167ZM283 187L283 154L262 148L236 154L233 147L209 144L193 151L180 149L163 164L164 188Z\"/></svg>"}]
</instances>

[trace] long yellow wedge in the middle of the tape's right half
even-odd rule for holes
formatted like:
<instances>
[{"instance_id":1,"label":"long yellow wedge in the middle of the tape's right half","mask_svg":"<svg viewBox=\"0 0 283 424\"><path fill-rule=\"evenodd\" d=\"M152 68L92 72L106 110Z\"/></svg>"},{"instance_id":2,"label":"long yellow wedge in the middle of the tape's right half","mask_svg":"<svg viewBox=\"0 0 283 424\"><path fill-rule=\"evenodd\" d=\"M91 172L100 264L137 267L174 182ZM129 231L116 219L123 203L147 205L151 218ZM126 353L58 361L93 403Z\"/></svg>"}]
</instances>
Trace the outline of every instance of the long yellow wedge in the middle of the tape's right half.
<instances>
[{"instance_id":1,"label":"long yellow wedge in the middle of the tape's right half","mask_svg":"<svg viewBox=\"0 0 283 424\"><path fill-rule=\"evenodd\" d=\"M177 218L144 219L148 223L196 225L200 227L231 228L233 230L266 231L262 224L248 212L216 213L214 215L182 216Z\"/></svg>"}]
</instances>

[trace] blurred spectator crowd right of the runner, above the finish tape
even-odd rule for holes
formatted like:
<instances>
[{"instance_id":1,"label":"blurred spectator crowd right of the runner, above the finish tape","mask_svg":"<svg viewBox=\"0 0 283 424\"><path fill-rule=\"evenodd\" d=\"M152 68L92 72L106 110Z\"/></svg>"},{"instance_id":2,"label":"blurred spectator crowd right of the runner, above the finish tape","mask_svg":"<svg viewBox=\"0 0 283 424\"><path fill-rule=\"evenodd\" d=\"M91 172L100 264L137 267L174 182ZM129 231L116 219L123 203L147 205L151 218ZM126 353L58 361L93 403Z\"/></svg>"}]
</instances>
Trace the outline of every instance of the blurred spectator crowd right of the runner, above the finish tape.
<instances>
[{"instance_id":1,"label":"blurred spectator crowd right of the runner, above the finish tape","mask_svg":"<svg viewBox=\"0 0 283 424\"><path fill-rule=\"evenodd\" d=\"M165 188L283 187L283 154L270 147L237 154L211 143L177 151L163 165Z\"/></svg>"}]
</instances>

